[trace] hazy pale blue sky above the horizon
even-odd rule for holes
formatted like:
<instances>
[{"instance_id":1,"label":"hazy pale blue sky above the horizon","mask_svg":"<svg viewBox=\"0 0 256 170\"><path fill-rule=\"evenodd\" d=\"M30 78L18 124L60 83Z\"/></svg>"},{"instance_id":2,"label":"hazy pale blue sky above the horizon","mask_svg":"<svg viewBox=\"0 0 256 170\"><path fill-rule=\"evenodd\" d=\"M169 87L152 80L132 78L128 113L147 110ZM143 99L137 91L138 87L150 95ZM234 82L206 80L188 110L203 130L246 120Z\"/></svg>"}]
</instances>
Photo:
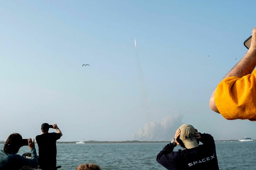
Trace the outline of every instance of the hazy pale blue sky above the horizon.
<instances>
[{"instance_id":1,"label":"hazy pale blue sky above the horizon","mask_svg":"<svg viewBox=\"0 0 256 170\"><path fill-rule=\"evenodd\" d=\"M256 139L255 122L209 108L247 52L255 5L0 1L0 140L35 137L44 122L57 123L59 141L168 140L183 123L216 140Z\"/></svg>"}]
</instances>

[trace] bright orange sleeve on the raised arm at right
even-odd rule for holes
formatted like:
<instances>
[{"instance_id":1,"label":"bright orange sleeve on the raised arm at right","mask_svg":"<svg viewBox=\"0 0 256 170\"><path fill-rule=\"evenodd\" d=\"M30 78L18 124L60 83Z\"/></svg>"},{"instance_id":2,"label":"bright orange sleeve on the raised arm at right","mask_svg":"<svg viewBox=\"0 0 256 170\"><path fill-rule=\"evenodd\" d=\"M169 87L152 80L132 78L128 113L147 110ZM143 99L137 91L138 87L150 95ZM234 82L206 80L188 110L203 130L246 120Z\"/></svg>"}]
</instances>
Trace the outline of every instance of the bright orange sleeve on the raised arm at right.
<instances>
[{"instance_id":1,"label":"bright orange sleeve on the raised arm at right","mask_svg":"<svg viewBox=\"0 0 256 170\"><path fill-rule=\"evenodd\" d=\"M242 78L222 80L216 88L214 100L225 119L256 121L256 70Z\"/></svg>"}]
</instances>

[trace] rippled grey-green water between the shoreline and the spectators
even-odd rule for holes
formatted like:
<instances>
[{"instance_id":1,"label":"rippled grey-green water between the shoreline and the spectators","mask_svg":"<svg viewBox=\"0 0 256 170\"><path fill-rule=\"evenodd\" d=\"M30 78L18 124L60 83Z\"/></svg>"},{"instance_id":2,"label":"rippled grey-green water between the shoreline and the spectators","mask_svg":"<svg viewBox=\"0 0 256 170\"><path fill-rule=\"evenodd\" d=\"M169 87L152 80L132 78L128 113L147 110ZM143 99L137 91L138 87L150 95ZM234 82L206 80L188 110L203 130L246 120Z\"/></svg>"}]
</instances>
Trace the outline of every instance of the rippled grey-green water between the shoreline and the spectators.
<instances>
[{"instance_id":1,"label":"rippled grey-green water between the shoreline and the spectators","mask_svg":"<svg viewBox=\"0 0 256 170\"><path fill-rule=\"evenodd\" d=\"M90 143L57 144L57 165L60 170L74 170L81 163L93 162L103 169L165 169L155 160L167 143ZM0 144L3 148L3 144ZM175 150L180 149L175 147ZM255 168L256 142L216 142L219 167L222 170L251 170ZM36 146L38 152L38 147ZM19 154L29 152L23 146Z\"/></svg>"}]
</instances>

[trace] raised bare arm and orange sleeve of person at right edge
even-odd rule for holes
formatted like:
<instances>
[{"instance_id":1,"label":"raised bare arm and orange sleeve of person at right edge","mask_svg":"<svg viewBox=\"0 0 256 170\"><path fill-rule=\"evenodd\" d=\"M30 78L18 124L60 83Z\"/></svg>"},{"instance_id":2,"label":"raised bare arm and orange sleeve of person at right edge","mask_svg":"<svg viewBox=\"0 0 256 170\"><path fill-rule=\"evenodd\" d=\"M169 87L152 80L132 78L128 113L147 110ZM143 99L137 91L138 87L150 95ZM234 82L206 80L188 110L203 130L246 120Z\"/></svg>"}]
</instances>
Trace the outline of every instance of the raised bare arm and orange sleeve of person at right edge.
<instances>
[{"instance_id":1,"label":"raised bare arm and orange sleeve of person at right edge","mask_svg":"<svg viewBox=\"0 0 256 170\"><path fill-rule=\"evenodd\" d=\"M252 30L251 46L210 98L210 108L228 120L256 121L256 28Z\"/></svg>"}]
</instances>

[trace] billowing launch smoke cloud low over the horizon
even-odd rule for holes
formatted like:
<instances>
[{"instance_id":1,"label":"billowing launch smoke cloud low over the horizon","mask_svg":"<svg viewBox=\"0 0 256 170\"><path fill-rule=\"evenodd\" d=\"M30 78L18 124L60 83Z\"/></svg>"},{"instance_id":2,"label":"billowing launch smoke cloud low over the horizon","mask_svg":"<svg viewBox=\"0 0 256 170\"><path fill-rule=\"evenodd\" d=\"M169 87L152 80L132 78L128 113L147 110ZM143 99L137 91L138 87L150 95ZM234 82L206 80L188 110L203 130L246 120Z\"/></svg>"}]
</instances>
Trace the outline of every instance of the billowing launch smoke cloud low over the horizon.
<instances>
[{"instance_id":1,"label":"billowing launch smoke cloud low over the horizon","mask_svg":"<svg viewBox=\"0 0 256 170\"><path fill-rule=\"evenodd\" d=\"M182 115L168 116L161 121L146 123L144 128L139 129L137 134L133 135L134 140L139 141L169 141L174 138L176 130L181 126Z\"/></svg>"}]
</instances>

